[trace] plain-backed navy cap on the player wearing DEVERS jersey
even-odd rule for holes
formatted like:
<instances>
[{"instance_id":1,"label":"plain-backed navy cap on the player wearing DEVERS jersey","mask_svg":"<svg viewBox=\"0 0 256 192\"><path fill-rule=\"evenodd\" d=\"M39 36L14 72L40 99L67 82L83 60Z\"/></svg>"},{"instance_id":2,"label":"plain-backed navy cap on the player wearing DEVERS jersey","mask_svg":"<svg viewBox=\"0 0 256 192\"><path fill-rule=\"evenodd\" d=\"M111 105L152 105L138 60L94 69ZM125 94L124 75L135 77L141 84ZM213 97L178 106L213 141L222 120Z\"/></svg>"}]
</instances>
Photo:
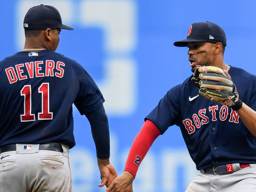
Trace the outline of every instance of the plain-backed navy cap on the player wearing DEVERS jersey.
<instances>
[{"instance_id":1,"label":"plain-backed navy cap on the player wearing DEVERS jersey","mask_svg":"<svg viewBox=\"0 0 256 192\"><path fill-rule=\"evenodd\" d=\"M55 7L43 4L30 8L23 23L26 30L74 29L62 24L60 13Z\"/></svg>"}]
</instances>

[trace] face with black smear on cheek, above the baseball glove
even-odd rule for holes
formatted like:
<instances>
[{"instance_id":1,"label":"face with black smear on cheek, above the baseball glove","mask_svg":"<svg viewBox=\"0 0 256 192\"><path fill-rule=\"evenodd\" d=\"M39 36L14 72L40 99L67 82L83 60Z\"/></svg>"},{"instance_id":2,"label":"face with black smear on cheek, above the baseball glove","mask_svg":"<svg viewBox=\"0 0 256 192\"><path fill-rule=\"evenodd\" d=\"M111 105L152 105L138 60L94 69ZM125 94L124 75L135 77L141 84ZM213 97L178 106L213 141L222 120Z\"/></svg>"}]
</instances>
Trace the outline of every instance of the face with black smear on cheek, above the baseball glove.
<instances>
[{"instance_id":1,"label":"face with black smear on cheek, above the baseball glove","mask_svg":"<svg viewBox=\"0 0 256 192\"><path fill-rule=\"evenodd\" d=\"M197 65L211 66L214 61L215 44L209 42L190 42L188 43L188 60L190 61L191 71L194 72Z\"/></svg>"}]
</instances>

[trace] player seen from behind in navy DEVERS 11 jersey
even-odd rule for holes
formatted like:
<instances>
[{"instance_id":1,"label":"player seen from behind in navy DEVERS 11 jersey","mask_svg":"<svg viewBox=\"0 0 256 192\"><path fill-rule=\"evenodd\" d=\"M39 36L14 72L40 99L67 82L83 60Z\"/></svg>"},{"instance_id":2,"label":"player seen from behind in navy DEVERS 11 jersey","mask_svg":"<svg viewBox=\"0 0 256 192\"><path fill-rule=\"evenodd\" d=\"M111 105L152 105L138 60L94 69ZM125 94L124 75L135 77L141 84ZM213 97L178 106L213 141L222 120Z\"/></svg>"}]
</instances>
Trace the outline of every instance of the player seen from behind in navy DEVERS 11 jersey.
<instances>
[{"instance_id":1,"label":"player seen from behind in navy DEVERS 11 jersey","mask_svg":"<svg viewBox=\"0 0 256 192\"><path fill-rule=\"evenodd\" d=\"M61 29L73 28L41 4L28 10L24 29L24 49L0 62L0 192L72 191L73 103L91 125L99 186L109 186L117 174L104 98L80 64L54 52Z\"/></svg>"}]
</instances>

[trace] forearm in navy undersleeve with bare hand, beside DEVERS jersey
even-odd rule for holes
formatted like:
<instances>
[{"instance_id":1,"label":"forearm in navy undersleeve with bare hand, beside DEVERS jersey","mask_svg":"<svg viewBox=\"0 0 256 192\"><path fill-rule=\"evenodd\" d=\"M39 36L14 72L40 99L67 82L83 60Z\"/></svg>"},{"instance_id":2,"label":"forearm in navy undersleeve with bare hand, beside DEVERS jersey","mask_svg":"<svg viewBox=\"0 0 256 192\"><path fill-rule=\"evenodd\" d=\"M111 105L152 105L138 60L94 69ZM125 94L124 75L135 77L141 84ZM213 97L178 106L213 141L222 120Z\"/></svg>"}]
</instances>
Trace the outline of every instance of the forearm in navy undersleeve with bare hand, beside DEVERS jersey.
<instances>
[{"instance_id":1,"label":"forearm in navy undersleeve with bare hand, beside DEVERS jersey","mask_svg":"<svg viewBox=\"0 0 256 192\"><path fill-rule=\"evenodd\" d=\"M86 117L90 122L92 137L96 146L100 178L102 180L99 186L102 187L106 185L108 187L114 178L117 177L116 170L109 162L110 137L108 117L105 113L103 105L97 110L86 114Z\"/></svg>"}]
</instances>

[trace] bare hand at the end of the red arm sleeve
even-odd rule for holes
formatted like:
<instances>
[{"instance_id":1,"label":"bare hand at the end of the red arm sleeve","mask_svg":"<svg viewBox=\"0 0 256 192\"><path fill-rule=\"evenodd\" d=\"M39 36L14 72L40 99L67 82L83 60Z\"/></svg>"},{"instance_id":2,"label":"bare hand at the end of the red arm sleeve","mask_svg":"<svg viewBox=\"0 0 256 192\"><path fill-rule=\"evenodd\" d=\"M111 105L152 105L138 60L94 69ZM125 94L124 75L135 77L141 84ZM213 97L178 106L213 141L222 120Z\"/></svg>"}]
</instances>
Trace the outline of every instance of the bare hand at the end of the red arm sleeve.
<instances>
[{"instance_id":1,"label":"bare hand at the end of the red arm sleeve","mask_svg":"<svg viewBox=\"0 0 256 192\"><path fill-rule=\"evenodd\" d=\"M114 179L105 192L133 192L133 180L133 175L128 171L124 171L122 175Z\"/></svg>"}]
</instances>

